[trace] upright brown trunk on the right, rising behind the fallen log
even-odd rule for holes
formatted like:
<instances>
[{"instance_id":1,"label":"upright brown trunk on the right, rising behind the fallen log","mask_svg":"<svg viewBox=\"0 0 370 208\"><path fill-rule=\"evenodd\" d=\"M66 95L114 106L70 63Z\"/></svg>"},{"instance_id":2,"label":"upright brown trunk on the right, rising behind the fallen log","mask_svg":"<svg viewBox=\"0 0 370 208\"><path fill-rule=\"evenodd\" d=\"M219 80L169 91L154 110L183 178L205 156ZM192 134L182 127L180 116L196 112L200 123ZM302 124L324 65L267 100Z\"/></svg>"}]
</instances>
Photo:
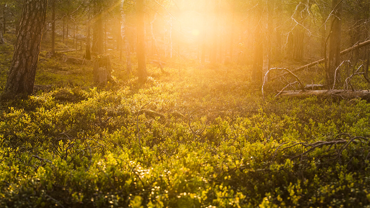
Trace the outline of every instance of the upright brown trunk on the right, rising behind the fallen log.
<instances>
[{"instance_id":1,"label":"upright brown trunk on the right, rising behind the fallen log","mask_svg":"<svg viewBox=\"0 0 370 208\"><path fill-rule=\"evenodd\" d=\"M334 84L334 72L340 64L340 30L342 27L342 0L333 0L332 31L329 41L326 82L329 88ZM337 73L339 79L339 72Z\"/></svg>"}]
</instances>

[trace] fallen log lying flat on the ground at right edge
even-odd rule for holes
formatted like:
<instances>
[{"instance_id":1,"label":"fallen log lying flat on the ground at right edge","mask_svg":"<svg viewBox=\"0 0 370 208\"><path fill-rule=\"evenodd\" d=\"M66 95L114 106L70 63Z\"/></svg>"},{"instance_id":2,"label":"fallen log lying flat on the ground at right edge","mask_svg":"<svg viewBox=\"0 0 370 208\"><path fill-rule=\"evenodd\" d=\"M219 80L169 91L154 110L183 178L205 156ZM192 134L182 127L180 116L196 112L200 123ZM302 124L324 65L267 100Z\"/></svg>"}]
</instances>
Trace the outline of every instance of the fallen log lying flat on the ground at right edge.
<instances>
[{"instance_id":1,"label":"fallen log lying flat on the ground at right edge","mask_svg":"<svg viewBox=\"0 0 370 208\"><path fill-rule=\"evenodd\" d=\"M370 91L369 90L306 90L306 91L286 91L280 94L280 96L290 96L296 98L307 98L311 96L316 96L320 98L339 98L339 99L353 99L361 98L363 100L370 101Z\"/></svg>"}]
</instances>

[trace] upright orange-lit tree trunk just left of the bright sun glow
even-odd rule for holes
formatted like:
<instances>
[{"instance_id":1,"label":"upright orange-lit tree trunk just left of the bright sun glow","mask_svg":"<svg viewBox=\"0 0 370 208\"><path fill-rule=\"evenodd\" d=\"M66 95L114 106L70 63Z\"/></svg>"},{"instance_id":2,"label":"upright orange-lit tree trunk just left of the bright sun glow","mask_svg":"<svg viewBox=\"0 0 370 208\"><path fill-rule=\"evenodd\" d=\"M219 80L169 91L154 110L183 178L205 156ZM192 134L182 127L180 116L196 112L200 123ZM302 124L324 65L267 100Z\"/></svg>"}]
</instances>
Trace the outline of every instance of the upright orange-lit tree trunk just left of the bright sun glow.
<instances>
[{"instance_id":1,"label":"upright orange-lit tree trunk just left of the bright sun glow","mask_svg":"<svg viewBox=\"0 0 370 208\"><path fill-rule=\"evenodd\" d=\"M137 58L139 83L147 81L147 67L145 63L145 25L144 25L144 0L136 1L137 7Z\"/></svg>"}]
</instances>

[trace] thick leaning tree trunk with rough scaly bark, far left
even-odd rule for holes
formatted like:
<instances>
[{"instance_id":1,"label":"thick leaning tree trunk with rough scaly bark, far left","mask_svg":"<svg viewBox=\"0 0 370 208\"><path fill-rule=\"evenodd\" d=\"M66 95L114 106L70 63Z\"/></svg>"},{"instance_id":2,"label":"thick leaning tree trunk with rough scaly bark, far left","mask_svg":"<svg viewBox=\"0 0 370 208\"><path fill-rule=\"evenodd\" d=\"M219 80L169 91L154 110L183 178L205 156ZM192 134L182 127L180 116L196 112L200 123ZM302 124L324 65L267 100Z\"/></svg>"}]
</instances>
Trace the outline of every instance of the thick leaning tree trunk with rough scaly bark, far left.
<instances>
[{"instance_id":1,"label":"thick leaning tree trunk with rough scaly bark, far left","mask_svg":"<svg viewBox=\"0 0 370 208\"><path fill-rule=\"evenodd\" d=\"M41 37L46 20L46 6L47 0L27 0L24 3L20 32L5 85L7 93L31 94L33 92Z\"/></svg>"}]
</instances>

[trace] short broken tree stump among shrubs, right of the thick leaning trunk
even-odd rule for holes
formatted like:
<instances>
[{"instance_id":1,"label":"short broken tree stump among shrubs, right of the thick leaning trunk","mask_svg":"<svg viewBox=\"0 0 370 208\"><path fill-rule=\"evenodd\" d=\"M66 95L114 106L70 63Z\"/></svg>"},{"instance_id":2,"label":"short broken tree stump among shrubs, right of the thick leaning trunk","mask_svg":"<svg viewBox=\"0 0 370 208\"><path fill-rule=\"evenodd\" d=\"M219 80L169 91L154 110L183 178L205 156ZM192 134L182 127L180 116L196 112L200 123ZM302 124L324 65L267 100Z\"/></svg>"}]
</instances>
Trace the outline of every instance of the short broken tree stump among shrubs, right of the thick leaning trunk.
<instances>
[{"instance_id":1,"label":"short broken tree stump among shrubs, right of the thick leaning trunk","mask_svg":"<svg viewBox=\"0 0 370 208\"><path fill-rule=\"evenodd\" d=\"M111 79L111 71L109 56L100 55L94 58L94 82L107 84L107 80Z\"/></svg>"}]
</instances>

